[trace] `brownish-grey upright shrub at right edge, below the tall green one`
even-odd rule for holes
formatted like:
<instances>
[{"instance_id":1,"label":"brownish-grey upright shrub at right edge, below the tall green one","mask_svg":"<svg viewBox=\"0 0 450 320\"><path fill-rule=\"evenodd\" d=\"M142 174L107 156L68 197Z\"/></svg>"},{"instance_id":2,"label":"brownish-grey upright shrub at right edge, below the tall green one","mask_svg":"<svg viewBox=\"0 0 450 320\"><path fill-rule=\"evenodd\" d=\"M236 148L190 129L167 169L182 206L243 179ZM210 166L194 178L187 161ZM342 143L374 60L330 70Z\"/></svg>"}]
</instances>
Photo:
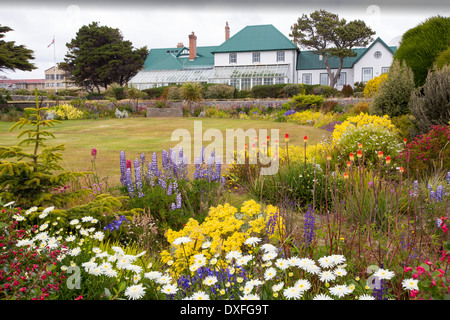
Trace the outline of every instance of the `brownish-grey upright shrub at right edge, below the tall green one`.
<instances>
[{"instance_id":1,"label":"brownish-grey upright shrub at right edge, below the tall green one","mask_svg":"<svg viewBox=\"0 0 450 320\"><path fill-rule=\"evenodd\" d=\"M435 68L428 73L425 84L411 95L411 114L421 133L432 125L450 121L450 66Z\"/></svg>"}]
</instances>

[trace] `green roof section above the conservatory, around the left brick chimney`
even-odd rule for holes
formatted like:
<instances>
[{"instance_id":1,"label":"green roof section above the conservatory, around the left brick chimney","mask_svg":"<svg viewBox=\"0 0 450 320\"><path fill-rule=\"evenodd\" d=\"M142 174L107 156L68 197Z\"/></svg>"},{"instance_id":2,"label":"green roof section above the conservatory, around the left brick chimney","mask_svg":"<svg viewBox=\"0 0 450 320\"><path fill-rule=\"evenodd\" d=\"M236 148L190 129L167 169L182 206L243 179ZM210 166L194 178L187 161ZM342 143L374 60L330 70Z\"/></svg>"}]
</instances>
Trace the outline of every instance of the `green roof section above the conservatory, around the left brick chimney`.
<instances>
[{"instance_id":1,"label":"green roof section above the conservatory, around the left brick chimney","mask_svg":"<svg viewBox=\"0 0 450 320\"><path fill-rule=\"evenodd\" d=\"M216 46L197 47L197 57L189 61L189 55L181 55L184 49L189 48L163 48L151 49L144 62L144 70L174 70L193 68L212 68L214 55L212 51Z\"/></svg>"}]
</instances>

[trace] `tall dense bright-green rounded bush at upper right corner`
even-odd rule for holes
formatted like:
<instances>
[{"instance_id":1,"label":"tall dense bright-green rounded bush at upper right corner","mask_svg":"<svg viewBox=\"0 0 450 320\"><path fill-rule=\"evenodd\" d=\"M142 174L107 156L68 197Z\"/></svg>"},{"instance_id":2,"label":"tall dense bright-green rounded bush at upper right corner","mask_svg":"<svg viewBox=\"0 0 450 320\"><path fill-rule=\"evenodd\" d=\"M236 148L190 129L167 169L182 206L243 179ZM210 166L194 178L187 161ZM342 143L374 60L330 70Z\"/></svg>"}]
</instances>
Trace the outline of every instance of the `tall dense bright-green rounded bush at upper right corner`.
<instances>
[{"instance_id":1,"label":"tall dense bright-green rounded bush at upper right corner","mask_svg":"<svg viewBox=\"0 0 450 320\"><path fill-rule=\"evenodd\" d=\"M450 18L431 17L403 34L394 61L405 61L414 73L415 87L422 86L438 55L447 50L448 39Z\"/></svg>"}]
</instances>

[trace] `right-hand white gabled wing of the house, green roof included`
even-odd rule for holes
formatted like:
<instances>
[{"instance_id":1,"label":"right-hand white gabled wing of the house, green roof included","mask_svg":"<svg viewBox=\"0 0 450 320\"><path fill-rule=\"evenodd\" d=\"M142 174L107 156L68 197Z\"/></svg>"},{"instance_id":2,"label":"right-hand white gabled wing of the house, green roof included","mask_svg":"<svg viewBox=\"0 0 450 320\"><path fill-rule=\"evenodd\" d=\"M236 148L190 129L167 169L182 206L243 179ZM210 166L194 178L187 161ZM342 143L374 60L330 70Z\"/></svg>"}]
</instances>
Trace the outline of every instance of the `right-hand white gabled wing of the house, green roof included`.
<instances>
[{"instance_id":1,"label":"right-hand white gabled wing of the house, green roof included","mask_svg":"<svg viewBox=\"0 0 450 320\"><path fill-rule=\"evenodd\" d=\"M353 49L356 57L345 58L340 78L336 84L337 89L342 89L345 84L354 86L356 82L366 83L388 72L396 47L389 47L377 38L367 48ZM339 59L328 59L331 71L336 72L339 67ZM323 57L312 51L301 51L297 58L298 83L329 85L329 77L323 61Z\"/></svg>"}]
</instances>

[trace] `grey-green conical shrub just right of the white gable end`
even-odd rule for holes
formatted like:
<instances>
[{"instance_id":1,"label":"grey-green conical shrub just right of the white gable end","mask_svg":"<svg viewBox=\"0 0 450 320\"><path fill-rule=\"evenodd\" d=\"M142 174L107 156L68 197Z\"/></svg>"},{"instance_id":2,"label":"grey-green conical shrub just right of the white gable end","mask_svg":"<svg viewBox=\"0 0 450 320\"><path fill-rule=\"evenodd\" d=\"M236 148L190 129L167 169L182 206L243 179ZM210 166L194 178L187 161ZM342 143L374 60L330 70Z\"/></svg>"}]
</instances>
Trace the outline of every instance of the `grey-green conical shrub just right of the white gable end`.
<instances>
[{"instance_id":1,"label":"grey-green conical shrub just right of the white gable end","mask_svg":"<svg viewBox=\"0 0 450 320\"><path fill-rule=\"evenodd\" d=\"M370 104L370 112L379 116L398 117L409 113L409 101L414 90L414 75L406 63L394 60L387 79Z\"/></svg>"}]
</instances>

